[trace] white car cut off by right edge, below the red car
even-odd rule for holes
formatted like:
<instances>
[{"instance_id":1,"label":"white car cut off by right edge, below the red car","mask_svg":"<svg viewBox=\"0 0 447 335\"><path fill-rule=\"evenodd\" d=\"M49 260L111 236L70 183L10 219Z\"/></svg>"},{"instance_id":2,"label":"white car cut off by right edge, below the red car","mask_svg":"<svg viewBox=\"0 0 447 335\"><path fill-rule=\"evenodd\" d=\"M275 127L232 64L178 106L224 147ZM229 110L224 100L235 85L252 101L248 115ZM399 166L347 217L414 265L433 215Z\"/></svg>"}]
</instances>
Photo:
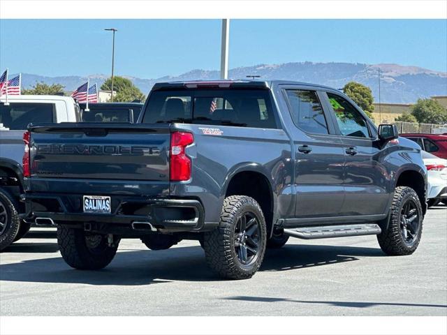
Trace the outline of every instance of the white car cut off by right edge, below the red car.
<instances>
[{"instance_id":1,"label":"white car cut off by right edge, below the red car","mask_svg":"<svg viewBox=\"0 0 447 335\"><path fill-rule=\"evenodd\" d=\"M422 158L427 168L427 205L435 206L442 202L447 204L447 159L439 158L427 151L422 151Z\"/></svg>"}]
</instances>

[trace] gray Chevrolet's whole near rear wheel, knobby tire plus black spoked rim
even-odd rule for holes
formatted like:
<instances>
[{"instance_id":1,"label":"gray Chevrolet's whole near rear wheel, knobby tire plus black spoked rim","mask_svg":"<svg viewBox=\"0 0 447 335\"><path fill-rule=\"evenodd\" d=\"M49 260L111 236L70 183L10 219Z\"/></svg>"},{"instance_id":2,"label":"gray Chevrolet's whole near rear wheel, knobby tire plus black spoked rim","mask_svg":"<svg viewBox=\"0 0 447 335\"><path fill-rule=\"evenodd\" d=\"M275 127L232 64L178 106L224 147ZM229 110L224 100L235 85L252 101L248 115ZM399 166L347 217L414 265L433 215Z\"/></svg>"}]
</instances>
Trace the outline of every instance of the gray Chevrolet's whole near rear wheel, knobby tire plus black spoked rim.
<instances>
[{"instance_id":1,"label":"gray Chevrolet's whole near rear wheel, knobby tire plus black spoked rim","mask_svg":"<svg viewBox=\"0 0 447 335\"><path fill-rule=\"evenodd\" d=\"M223 278L251 278L263 262L266 240L258 202L232 195L223 202L219 227L204 235L207 264Z\"/></svg>"}]
</instances>

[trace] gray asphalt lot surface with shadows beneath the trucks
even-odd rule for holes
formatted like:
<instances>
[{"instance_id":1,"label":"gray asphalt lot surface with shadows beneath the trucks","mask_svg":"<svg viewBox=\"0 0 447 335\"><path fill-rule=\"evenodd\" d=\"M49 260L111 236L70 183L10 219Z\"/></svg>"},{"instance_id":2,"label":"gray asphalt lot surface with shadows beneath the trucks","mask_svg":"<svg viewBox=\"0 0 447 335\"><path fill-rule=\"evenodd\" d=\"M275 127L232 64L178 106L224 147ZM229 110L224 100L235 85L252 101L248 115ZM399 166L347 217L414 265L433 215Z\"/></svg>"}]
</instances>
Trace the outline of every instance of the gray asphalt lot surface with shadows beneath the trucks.
<instances>
[{"instance_id":1,"label":"gray asphalt lot surface with shadows beneath the trucks","mask_svg":"<svg viewBox=\"0 0 447 335\"><path fill-rule=\"evenodd\" d=\"M149 251L122 241L101 271L68 267L54 230L0 254L0 315L446 315L447 207L429 209L411 256L376 237L290 239L245 281L222 281L196 241Z\"/></svg>"}]
</instances>

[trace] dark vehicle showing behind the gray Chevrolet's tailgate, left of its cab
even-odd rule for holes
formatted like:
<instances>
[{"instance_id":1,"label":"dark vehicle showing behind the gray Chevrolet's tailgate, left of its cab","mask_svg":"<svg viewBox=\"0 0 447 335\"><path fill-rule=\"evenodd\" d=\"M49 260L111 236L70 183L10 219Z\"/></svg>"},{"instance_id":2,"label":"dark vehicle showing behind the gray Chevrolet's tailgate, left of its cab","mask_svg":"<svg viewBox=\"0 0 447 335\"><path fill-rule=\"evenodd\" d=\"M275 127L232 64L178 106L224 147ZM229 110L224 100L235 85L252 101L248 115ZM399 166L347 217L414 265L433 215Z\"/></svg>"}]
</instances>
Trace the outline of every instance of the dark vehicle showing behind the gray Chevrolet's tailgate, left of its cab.
<instances>
[{"instance_id":1,"label":"dark vehicle showing behind the gray Chevrolet's tailgate, left of its cab","mask_svg":"<svg viewBox=\"0 0 447 335\"><path fill-rule=\"evenodd\" d=\"M140 116L142 103L80 103L83 122L131 122Z\"/></svg>"}]
</instances>

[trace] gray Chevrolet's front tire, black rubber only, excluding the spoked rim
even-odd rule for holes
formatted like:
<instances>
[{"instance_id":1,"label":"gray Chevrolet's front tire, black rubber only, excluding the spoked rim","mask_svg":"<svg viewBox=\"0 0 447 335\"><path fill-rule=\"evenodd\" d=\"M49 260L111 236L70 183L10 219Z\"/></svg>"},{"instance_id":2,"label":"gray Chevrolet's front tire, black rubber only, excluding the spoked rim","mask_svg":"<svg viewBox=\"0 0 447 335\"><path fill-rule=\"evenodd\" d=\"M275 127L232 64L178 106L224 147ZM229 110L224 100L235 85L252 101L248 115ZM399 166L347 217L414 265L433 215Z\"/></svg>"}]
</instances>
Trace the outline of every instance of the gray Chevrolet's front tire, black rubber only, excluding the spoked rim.
<instances>
[{"instance_id":1,"label":"gray Chevrolet's front tire, black rubber only, excluding the spoked rim","mask_svg":"<svg viewBox=\"0 0 447 335\"><path fill-rule=\"evenodd\" d=\"M414 239L411 245L405 243L401 233L402 228L400 227L402 207L409 199L416 203L418 220L420 220L418 236ZM393 197L393 204L391 205L388 229L382 230L381 234L377 235L377 240L379 241L382 251L387 255L411 255L418 248L422 230L423 209L420 205L418 195L413 188L406 186L397 187Z\"/></svg>"}]
</instances>

